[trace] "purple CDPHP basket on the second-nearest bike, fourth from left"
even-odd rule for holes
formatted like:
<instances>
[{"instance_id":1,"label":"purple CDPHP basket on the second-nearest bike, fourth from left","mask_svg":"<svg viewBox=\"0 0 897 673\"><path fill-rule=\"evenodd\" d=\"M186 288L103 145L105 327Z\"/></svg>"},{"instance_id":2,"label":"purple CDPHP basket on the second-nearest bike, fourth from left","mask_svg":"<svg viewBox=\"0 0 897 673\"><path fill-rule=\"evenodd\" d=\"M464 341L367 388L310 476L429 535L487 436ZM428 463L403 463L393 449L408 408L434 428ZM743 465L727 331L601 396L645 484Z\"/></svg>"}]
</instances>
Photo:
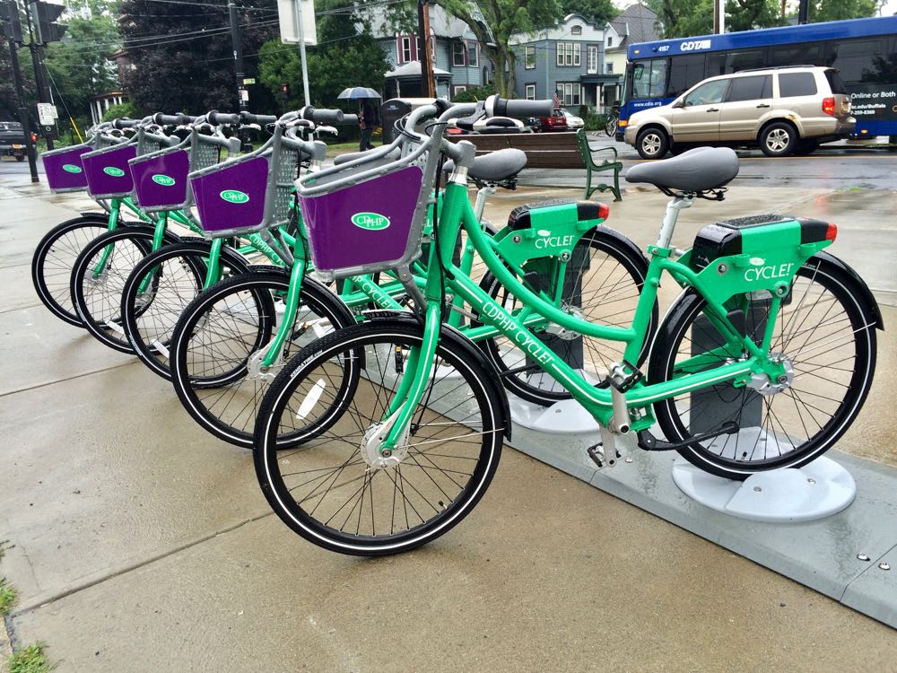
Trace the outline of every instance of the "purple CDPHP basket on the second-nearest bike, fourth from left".
<instances>
[{"instance_id":1,"label":"purple CDPHP basket on the second-nearest bike, fourth from left","mask_svg":"<svg viewBox=\"0 0 897 673\"><path fill-rule=\"evenodd\" d=\"M216 235L252 229L265 219L268 160L226 162L190 178L203 231Z\"/></svg>"}]
</instances>

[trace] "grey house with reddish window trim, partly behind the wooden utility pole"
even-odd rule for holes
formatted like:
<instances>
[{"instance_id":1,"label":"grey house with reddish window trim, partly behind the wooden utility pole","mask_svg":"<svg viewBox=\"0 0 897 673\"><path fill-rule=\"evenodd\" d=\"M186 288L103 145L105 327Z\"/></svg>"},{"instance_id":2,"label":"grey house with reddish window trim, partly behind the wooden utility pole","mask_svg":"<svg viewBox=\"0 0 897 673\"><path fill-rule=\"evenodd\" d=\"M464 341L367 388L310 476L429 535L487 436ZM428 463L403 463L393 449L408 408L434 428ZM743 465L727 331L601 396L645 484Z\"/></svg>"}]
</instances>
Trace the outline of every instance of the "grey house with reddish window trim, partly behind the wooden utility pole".
<instances>
[{"instance_id":1,"label":"grey house with reddish window trim, partly behind the wooden utility pole","mask_svg":"<svg viewBox=\"0 0 897 673\"><path fill-rule=\"evenodd\" d=\"M459 92L492 82L492 63L466 22L430 4L430 46L436 95L451 100ZM386 14L367 10L367 24L394 67L386 74L384 99L422 95L420 49L416 32L396 32Z\"/></svg>"}]
</instances>

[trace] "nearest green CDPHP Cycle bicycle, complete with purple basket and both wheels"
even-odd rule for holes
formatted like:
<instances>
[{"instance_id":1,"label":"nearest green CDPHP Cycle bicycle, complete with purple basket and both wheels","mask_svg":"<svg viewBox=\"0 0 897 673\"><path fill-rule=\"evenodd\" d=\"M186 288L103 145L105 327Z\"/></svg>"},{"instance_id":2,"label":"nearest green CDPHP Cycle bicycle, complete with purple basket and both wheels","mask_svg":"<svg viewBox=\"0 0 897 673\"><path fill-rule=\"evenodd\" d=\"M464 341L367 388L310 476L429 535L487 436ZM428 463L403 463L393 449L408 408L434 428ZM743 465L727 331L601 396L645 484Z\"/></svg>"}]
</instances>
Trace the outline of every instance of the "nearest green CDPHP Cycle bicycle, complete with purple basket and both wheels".
<instances>
[{"instance_id":1,"label":"nearest green CDPHP Cycle bicycle, complete with purple basket and both wheels","mask_svg":"<svg viewBox=\"0 0 897 673\"><path fill-rule=\"evenodd\" d=\"M643 450L677 450L712 474L744 479L805 465L856 419L874 376L882 320L866 284L823 251L834 225L761 215L705 227L682 255L671 244L679 212L699 197L721 199L736 177L731 150L694 150L630 170L630 181L672 197L658 242L648 249L631 324L589 322L577 306L556 306L544 289L521 282L517 261L527 250L549 256L549 274L576 264L571 250L592 218L605 213L588 203L536 205L516 237L489 240L466 198L473 147L444 142L442 131L451 118L529 117L550 107L492 97L485 106L442 112L431 138L416 136L415 152L447 153L457 166L436 219L426 284L419 293L408 284L417 312L371 316L322 337L272 383L257 415L257 478L277 515L303 538L344 554L393 554L440 537L483 496L511 432L508 401L501 373L446 326L447 293L463 298L484 329L518 345L594 416L601 442L588 455L596 468L613 467L616 438L634 433ZM408 172L376 159L363 172L336 167L299 180L316 267L334 275L393 267L402 277L419 254L423 218L409 195L415 184L431 184L434 171ZM393 184L398 179L409 179L404 192ZM389 203L378 199L384 188ZM367 217L357 217L360 211ZM353 217L371 233L390 232L379 249L388 254L367 254L370 237L353 231ZM512 315L456 266L451 253L462 230L525 310ZM642 372L635 363L664 274L684 293ZM525 325L530 314L557 329L537 335ZM545 344L546 334L560 330L619 341L623 361L603 380L588 380ZM655 425L662 437L652 433Z\"/></svg>"}]
</instances>

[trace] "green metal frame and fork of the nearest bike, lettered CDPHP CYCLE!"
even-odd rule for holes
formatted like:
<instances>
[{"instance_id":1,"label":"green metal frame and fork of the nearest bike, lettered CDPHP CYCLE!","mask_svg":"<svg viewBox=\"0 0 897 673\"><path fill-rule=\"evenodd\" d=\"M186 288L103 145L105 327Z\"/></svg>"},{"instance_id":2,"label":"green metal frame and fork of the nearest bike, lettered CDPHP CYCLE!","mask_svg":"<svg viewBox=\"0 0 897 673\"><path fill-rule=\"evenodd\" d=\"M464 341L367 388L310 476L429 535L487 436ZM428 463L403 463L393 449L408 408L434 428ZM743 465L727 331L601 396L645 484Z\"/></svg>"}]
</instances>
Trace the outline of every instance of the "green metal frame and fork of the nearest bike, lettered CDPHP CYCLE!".
<instances>
[{"instance_id":1,"label":"green metal frame and fork of the nearest bike, lettered CDPHP CYCLE!","mask_svg":"<svg viewBox=\"0 0 897 673\"><path fill-rule=\"evenodd\" d=\"M706 300L707 304L704 308L704 314L720 330L720 334L725 337L727 341L725 350L727 354L731 355L729 358L731 362L707 371L696 371L702 364L708 361L707 354L701 354L679 364L679 370L687 375L658 383L646 384L641 381L636 383L626 393L624 398L625 406L632 412L631 426L627 426L636 432L648 429L654 424L654 416L651 413L650 405L659 400L672 398L723 381L731 382L736 387L745 386L750 382L754 373L764 373L771 377L784 373L783 365L772 362L768 356L775 320L770 319L768 321L762 337L762 344L755 344L750 337L745 337L739 333L729 317L733 298L738 293L768 291L771 293L770 315L775 315L783 297L788 293L791 280L794 274L797 273L797 268L819 249L823 249L831 244L832 240L823 240L809 244L800 244L799 241L795 241L797 242L796 246L788 247L790 254L787 257L783 256L780 258L782 265L791 265L788 266L788 271L791 273L788 278L778 278L775 282L758 283L756 280L748 281L748 274L746 273L740 276L737 274L731 274L729 277L714 276L725 265L732 265L731 267L735 268L739 265L741 267L749 267L757 263L758 260L756 258L742 259L748 257L745 255L737 256L736 258L720 258L725 259L725 262L718 260L720 262L719 266L715 262L711 267L707 267L701 272L695 272L683 261L676 261L673 258L673 249L668 247L669 239L675 227L675 214L679 208L691 205L691 199L688 199L687 205L682 205L681 202L676 203L676 200L674 200L667 209L667 217L658 245L649 247L649 271L640 294L632 325L629 328L611 327L589 323L586 320L565 313L553 306L549 301L546 301L544 294L540 296L527 289L514 273L517 272L519 275L521 273L520 269L514 268L513 271L509 270L506 266L509 264L508 260L506 258L502 259L496 254L495 244L480 229L470 202L467 199L464 181L461 179L457 182L450 182L446 188L442 216L437 230L439 246L431 246L430 264L428 267L436 270L441 264L442 268L445 269L444 282L448 289L457 293L458 296L471 305L477 311L483 323L490 325L498 333L508 337L514 344L523 349L531 360L538 363L544 371L553 376L563 388L569 390L571 396L584 406L588 413L602 426L610 426L614 416L614 394L611 389L597 388L580 376L569 364L563 362L557 354L554 354L551 349L527 329L524 321L509 314L501 304L492 300L492 297L483 292L461 269L453 264L451 251L454 249L455 241L462 228L466 232L468 240L472 242L476 251L483 258L486 266L492 271L492 274L510 293L513 293L519 300L524 302L525 306L530 310L540 317L560 325L562 328L579 332L579 334L624 342L626 344L625 359L631 362L635 361L644 345L651 307L657 299L660 278L664 272L671 275L678 284L692 287L696 293ZM670 214L671 210L674 211L672 215ZM766 234L770 235L771 232L766 232ZM437 249L441 252L441 259L437 257ZM762 264L764 260L760 259L759 262ZM513 267L513 265L510 266ZM785 268L785 266L782 268ZM725 266L725 268L728 270L729 267ZM425 308L426 323L422 346L417 349L417 353L413 350L409 354L405 373L396 390L396 395L384 414L384 424L388 424L389 429L385 440L380 446L381 452L391 451L401 441L405 428L414 414L414 409L420 403L427 383L430 380L431 371L434 368L434 356L438 345L439 332L442 327L442 283L443 280L440 279L437 271L431 273L427 278L424 291L427 300ZM551 298L547 299L550 300Z\"/></svg>"}]
</instances>

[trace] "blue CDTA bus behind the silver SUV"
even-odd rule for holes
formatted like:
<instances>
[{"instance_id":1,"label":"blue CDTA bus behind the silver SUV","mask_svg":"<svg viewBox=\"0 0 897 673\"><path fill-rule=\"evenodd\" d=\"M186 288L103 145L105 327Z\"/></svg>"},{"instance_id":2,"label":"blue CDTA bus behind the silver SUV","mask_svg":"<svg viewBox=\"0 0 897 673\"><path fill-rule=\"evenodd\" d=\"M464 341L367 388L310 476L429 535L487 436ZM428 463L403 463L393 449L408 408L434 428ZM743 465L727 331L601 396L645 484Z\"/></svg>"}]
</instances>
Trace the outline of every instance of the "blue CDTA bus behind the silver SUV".
<instances>
[{"instance_id":1,"label":"blue CDTA bus behind the silver SUV","mask_svg":"<svg viewBox=\"0 0 897 673\"><path fill-rule=\"evenodd\" d=\"M771 66L839 70L855 135L897 135L897 16L766 28L630 45L616 139L640 109L666 105L718 74Z\"/></svg>"}]
</instances>

